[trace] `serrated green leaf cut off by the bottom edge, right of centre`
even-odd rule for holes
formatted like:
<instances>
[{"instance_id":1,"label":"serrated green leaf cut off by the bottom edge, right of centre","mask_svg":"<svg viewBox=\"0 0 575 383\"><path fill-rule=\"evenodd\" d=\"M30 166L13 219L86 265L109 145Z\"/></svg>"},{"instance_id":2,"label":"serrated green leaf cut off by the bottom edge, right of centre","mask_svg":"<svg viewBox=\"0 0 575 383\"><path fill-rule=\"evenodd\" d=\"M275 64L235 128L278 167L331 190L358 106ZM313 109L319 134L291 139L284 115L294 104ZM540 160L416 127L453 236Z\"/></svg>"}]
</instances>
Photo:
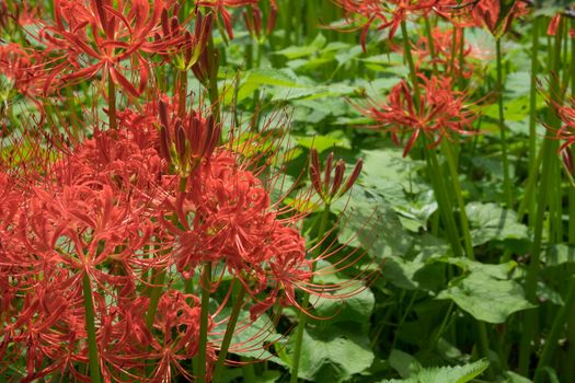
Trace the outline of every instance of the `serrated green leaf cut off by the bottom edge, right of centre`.
<instances>
[{"instance_id":1,"label":"serrated green leaf cut off by the bottom edge, right of centre","mask_svg":"<svg viewBox=\"0 0 575 383\"><path fill-rule=\"evenodd\" d=\"M467 383L472 379L479 376L483 371L490 367L490 362L485 359L476 362L455 365L455 367L433 367L422 369L417 375L411 376L406 380L391 380L382 381L389 383Z\"/></svg>"}]
</instances>

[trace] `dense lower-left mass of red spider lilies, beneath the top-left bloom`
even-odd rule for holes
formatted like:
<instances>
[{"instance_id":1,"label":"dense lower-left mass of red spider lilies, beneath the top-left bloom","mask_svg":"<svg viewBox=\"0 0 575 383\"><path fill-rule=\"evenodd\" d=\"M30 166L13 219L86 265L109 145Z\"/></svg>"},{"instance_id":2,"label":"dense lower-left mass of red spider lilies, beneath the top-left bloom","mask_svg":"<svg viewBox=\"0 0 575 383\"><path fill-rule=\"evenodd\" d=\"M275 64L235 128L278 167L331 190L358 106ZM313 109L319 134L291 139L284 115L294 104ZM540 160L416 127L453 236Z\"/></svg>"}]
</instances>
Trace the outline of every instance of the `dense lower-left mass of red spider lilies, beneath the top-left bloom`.
<instances>
[{"instance_id":1,"label":"dense lower-left mass of red spider lilies, beneath the top-left bloom","mask_svg":"<svg viewBox=\"0 0 575 383\"><path fill-rule=\"evenodd\" d=\"M175 109L159 104L146 111ZM2 371L23 358L24 381L85 380L87 280L106 381L193 378L182 363L198 351L199 298L168 286L152 303L151 278L160 272L194 280L207 265L219 265L250 297L244 307L252 321L273 307L298 306L297 289L332 290L310 285L321 270L307 257L302 216L271 201L258 172L233 146L211 140L193 148L194 138L219 130L197 112L186 118L185 128L169 118L162 135L162 117L125 112L117 130L96 130L57 161L28 159L45 164L26 172L3 163ZM215 276L209 289L231 289L226 279ZM227 295L210 312L208 329ZM207 347L209 373L219 343Z\"/></svg>"}]
</instances>

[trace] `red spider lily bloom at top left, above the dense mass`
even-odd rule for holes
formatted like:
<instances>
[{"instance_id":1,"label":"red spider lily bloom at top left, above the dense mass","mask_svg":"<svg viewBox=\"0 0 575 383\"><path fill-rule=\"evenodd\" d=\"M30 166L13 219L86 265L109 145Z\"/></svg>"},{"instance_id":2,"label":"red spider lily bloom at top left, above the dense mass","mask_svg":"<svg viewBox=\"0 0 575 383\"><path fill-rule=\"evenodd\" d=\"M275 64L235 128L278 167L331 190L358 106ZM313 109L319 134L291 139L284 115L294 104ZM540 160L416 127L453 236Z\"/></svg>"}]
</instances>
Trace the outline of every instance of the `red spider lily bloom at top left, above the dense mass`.
<instances>
[{"instance_id":1,"label":"red spider lily bloom at top left, above the dense mass","mask_svg":"<svg viewBox=\"0 0 575 383\"><path fill-rule=\"evenodd\" d=\"M139 95L150 76L145 55L165 53L185 43L183 34L163 34L165 5L163 0L154 1L153 8L148 0L123 1L117 8L110 0L55 1L54 24L44 27L39 36L50 54L62 55L50 68L50 78L66 84L102 72L130 95ZM162 38L158 39L159 35ZM124 61L129 61L129 67ZM129 71L139 72L138 86L128 80Z\"/></svg>"}]
</instances>

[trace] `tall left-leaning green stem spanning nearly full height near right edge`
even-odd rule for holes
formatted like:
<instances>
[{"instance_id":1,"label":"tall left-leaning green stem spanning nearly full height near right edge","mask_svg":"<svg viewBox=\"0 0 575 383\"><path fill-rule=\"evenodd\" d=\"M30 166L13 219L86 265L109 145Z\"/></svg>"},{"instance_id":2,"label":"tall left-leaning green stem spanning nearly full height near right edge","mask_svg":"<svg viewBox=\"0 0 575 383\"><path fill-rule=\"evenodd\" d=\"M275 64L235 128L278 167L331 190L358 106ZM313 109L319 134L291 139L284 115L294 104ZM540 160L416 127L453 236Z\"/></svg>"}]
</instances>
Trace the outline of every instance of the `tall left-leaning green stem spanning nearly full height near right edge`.
<instances>
[{"instance_id":1,"label":"tall left-leaning green stem spanning nearly full height near right edge","mask_svg":"<svg viewBox=\"0 0 575 383\"><path fill-rule=\"evenodd\" d=\"M563 23L561 23L563 24ZM561 25L559 27L561 31ZM561 39L562 34L556 33L554 37L554 44L550 46L550 94L553 103L561 103L561 93L559 78L555 76L561 69ZM551 129L557 130L561 126L561 120L556 114L553 103L548 108L547 123ZM541 246L543 242L543 227L545 211L549 204L549 196L552 193L553 187L559 187L560 183L556 177L556 172L553 167L557 166L556 150L559 142L553 138L545 137L542 149L542 164L541 164L541 177L539 185L539 195L537 200L537 214L534 219L533 228L533 243L531 248L531 259L527 269L526 277L526 298L531 303L537 303L537 282L539 280L539 268L541 257ZM550 235L550 237L553 237ZM536 310L528 311L525 317L525 330L519 347L519 373L527 375L529 372L529 361L531 359L531 341L537 336L537 322L539 312Z\"/></svg>"}]
</instances>

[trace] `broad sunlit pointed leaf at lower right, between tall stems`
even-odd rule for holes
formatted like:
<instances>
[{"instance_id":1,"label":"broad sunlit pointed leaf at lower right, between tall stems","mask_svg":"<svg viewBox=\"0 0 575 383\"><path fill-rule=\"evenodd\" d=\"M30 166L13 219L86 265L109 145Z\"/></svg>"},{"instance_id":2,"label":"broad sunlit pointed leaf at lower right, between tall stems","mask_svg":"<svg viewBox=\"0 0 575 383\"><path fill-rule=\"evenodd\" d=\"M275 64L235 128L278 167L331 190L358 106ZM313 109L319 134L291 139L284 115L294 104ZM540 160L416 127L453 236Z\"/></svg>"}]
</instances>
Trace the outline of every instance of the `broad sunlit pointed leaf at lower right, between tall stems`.
<instances>
[{"instance_id":1,"label":"broad sunlit pointed leaf at lower right, between tall stems","mask_svg":"<svg viewBox=\"0 0 575 383\"><path fill-rule=\"evenodd\" d=\"M510 314L534 307L525 299L519 283L481 271L457 279L437 298L450 299L474 318L487 323L504 323Z\"/></svg>"}]
</instances>

